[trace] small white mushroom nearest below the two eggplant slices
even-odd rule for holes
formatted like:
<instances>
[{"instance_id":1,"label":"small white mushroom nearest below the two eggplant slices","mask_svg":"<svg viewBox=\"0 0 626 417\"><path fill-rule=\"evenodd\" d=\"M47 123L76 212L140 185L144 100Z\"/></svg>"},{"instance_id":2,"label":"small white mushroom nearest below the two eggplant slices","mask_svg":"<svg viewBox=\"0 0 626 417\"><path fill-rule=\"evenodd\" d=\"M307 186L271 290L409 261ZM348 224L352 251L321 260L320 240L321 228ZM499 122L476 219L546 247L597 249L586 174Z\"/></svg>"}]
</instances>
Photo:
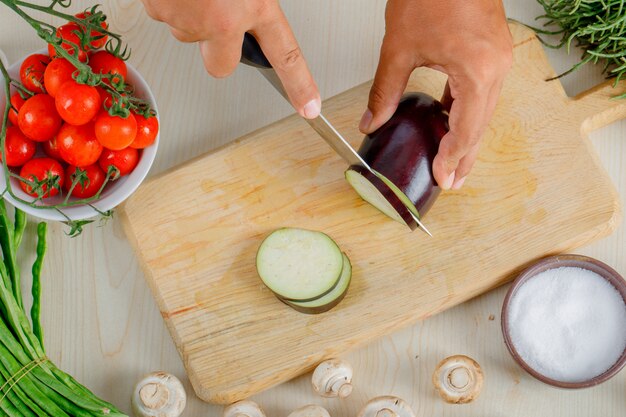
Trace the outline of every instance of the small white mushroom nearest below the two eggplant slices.
<instances>
[{"instance_id":1,"label":"small white mushroom nearest below the two eggplant slices","mask_svg":"<svg viewBox=\"0 0 626 417\"><path fill-rule=\"evenodd\" d=\"M352 366L341 359L329 359L315 368L311 382L322 397L346 398L352 393Z\"/></svg>"}]
</instances>

